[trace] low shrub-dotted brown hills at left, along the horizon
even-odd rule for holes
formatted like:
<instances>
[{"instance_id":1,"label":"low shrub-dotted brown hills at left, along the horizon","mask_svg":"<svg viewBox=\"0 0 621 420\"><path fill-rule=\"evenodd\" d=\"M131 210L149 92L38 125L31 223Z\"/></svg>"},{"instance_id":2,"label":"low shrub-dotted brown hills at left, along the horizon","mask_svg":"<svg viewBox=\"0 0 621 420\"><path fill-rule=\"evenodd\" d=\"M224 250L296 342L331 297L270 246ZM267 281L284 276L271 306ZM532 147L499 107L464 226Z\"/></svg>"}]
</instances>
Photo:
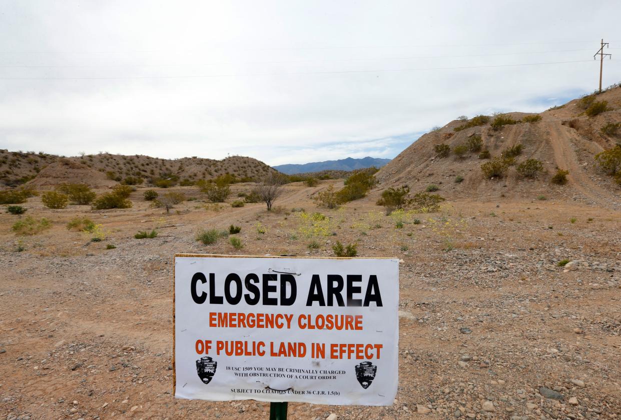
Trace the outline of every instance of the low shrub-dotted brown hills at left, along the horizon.
<instances>
[{"instance_id":1,"label":"low shrub-dotted brown hills at left, along the horizon","mask_svg":"<svg viewBox=\"0 0 621 420\"><path fill-rule=\"evenodd\" d=\"M0 150L0 184L19 185L33 179L35 185L55 185L64 178L74 177L73 172L60 174L63 168L60 161L79 165L78 179L93 185L101 184L101 177L109 181L120 181L128 176L140 177L148 181L160 177L178 177L179 181L187 179L212 179L226 173L238 178L259 179L275 169L253 158L231 156L222 160L204 158L160 159L136 154L87 154L63 158L45 153L10 152ZM50 168L49 170L46 170ZM71 167L71 171L78 170ZM69 169L69 167L66 167ZM91 177L93 178L91 180ZM65 181L60 181L65 182ZM105 184L105 183L104 183Z\"/></svg>"}]
</instances>

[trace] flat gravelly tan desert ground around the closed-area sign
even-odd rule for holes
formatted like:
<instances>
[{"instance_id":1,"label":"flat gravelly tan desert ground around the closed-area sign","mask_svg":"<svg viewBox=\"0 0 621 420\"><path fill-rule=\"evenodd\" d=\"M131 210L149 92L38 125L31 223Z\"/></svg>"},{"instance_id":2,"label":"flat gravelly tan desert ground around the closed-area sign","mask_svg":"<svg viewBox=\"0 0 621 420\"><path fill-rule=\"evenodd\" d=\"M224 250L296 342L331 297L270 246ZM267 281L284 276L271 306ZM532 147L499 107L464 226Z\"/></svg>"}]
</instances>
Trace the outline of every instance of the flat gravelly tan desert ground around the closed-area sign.
<instances>
[{"instance_id":1,"label":"flat gravelly tan desert ground around the closed-area sign","mask_svg":"<svg viewBox=\"0 0 621 420\"><path fill-rule=\"evenodd\" d=\"M332 256L337 240L358 243L358 256L402 261L399 390L388 407L292 403L289 418L621 417L619 210L493 194L396 220L377 194L317 208L311 195L328 183L342 185L286 185L271 212L232 208L233 198L213 205L194 187L176 188L197 200L170 213L149 207L142 187L124 210L50 210L31 197L27 215L52 221L34 236L16 236L18 217L2 212L0 418L268 418L268 403L171 395L173 256ZM234 184L232 196L251 186ZM329 217L328 236L308 228L302 209ZM105 239L67 230L76 215L101 224ZM240 250L229 238L195 239L231 224L242 227ZM156 238L134 238L152 229Z\"/></svg>"}]
</instances>

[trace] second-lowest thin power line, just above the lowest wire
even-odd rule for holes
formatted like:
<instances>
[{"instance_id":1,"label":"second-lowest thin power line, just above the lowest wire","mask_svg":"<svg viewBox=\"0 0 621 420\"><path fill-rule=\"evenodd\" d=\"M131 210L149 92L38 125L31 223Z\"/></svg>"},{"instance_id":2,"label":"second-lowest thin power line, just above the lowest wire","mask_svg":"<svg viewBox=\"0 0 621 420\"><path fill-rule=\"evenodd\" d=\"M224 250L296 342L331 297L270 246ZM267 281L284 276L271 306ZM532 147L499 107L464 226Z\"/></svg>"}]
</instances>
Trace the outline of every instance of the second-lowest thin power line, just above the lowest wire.
<instances>
[{"instance_id":1,"label":"second-lowest thin power line, just above the lowest wire","mask_svg":"<svg viewBox=\"0 0 621 420\"><path fill-rule=\"evenodd\" d=\"M574 51L589 51L586 48L578 50L555 50L555 51L528 51L520 53L494 53L494 54L467 54L467 55L430 55L416 57L383 57L383 58L340 58L337 60L296 60L296 61L222 61L219 63L201 63L201 64L129 64L129 65L7 65L0 68L124 68L124 67L201 67L201 66L218 66L218 65L246 65L246 64L305 64L305 63L340 63L347 61L379 61L379 60L421 60L428 58L466 58L466 57L487 57L487 56L505 56L505 55L526 55L526 54L548 54L548 53L567 53Z\"/></svg>"}]
</instances>

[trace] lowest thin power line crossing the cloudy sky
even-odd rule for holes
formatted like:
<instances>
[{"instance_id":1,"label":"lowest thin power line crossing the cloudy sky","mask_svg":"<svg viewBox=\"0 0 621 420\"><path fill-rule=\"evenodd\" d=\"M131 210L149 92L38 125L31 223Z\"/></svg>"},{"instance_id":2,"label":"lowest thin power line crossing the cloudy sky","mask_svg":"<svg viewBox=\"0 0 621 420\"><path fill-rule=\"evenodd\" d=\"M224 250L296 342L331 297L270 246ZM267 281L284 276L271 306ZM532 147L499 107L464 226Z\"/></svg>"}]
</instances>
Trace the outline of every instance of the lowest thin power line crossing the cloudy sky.
<instances>
[{"instance_id":1,"label":"lowest thin power line crossing the cloudy sky","mask_svg":"<svg viewBox=\"0 0 621 420\"><path fill-rule=\"evenodd\" d=\"M454 70L454 69L475 69L475 68L502 68L518 66L540 66L569 63L591 63L591 60L578 61L551 61L548 63L525 63L507 64L490 66L460 66L460 67L428 67L428 68L407 68L407 69L375 69L375 70L342 70L342 71L303 71L285 73L238 73L238 74L206 74L206 75L184 75L184 76L119 76L119 77L79 77L79 78L0 78L0 80L122 80L122 79L201 79L201 78L228 78L237 76L292 76L307 74L345 74L345 73L386 73L398 71L425 71L425 70Z\"/></svg>"}]
</instances>

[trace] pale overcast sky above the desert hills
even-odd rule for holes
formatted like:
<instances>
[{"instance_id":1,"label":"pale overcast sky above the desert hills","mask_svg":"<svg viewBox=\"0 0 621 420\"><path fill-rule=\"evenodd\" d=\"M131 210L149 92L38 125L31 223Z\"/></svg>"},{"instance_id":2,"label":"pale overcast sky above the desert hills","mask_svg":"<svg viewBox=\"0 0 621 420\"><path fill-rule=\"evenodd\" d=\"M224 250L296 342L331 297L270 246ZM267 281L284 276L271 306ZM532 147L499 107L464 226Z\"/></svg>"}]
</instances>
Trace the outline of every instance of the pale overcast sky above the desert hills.
<instances>
[{"instance_id":1,"label":"pale overcast sky above the desert hills","mask_svg":"<svg viewBox=\"0 0 621 420\"><path fill-rule=\"evenodd\" d=\"M593 91L602 37L604 86L621 81L620 12L619 0L2 0L0 148L393 158L458 115Z\"/></svg>"}]
</instances>

